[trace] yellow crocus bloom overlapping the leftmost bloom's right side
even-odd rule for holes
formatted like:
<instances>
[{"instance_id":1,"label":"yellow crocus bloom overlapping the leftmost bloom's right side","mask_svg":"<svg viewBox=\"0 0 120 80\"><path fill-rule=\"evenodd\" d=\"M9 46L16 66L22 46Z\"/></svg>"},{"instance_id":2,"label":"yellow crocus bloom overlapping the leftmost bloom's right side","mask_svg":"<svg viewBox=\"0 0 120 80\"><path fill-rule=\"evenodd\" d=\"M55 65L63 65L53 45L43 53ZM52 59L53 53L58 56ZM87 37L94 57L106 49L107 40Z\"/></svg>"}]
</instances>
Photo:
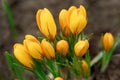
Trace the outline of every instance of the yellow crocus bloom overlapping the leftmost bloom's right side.
<instances>
[{"instance_id":1,"label":"yellow crocus bloom overlapping the leftmost bloom's right side","mask_svg":"<svg viewBox=\"0 0 120 80\"><path fill-rule=\"evenodd\" d=\"M33 58L39 60L43 59L43 51L41 49L41 44L34 36L26 35L24 40L24 45L28 49L29 54Z\"/></svg>"}]
</instances>

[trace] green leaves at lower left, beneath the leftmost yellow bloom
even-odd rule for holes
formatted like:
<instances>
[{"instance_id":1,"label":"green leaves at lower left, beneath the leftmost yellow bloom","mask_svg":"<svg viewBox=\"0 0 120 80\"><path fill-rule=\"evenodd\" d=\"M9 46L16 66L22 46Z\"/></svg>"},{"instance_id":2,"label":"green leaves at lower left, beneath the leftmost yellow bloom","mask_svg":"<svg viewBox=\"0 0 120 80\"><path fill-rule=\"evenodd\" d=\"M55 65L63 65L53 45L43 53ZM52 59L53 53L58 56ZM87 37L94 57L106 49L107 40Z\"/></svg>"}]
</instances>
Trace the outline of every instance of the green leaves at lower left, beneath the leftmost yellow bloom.
<instances>
[{"instance_id":1,"label":"green leaves at lower left, beneath the leftmost yellow bloom","mask_svg":"<svg viewBox=\"0 0 120 80\"><path fill-rule=\"evenodd\" d=\"M11 55L9 52L5 53L5 57L6 57L6 60L8 62L8 66L11 72L11 79L14 79L15 76L17 76L19 80L25 80L24 79L25 72L23 68L24 66L22 66L20 63L15 61L15 57Z\"/></svg>"}]
</instances>

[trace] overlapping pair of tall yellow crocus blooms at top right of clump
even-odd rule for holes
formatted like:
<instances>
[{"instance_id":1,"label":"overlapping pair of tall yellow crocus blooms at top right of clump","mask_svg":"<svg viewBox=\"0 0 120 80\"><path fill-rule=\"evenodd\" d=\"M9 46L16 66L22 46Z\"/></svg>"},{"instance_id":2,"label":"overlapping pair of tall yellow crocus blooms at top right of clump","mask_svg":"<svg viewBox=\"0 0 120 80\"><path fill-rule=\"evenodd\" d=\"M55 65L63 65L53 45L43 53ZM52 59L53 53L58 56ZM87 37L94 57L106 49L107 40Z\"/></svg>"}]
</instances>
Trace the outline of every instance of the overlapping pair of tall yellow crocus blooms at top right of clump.
<instances>
[{"instance_id":1,"label":"overlapping pair of tall yellow crocus blooms at top right of clump","mask_svg":"<svg viewBox=\"0 0 120 80\"><path fill-rule=\"evenodd\" d=\"M79 8L71 6L68 10L61 10L59 14L59 22L62 32L68 36L70 32L79 34L87 24L86 10L84 6Z\"/></svg>"}]
</instances>

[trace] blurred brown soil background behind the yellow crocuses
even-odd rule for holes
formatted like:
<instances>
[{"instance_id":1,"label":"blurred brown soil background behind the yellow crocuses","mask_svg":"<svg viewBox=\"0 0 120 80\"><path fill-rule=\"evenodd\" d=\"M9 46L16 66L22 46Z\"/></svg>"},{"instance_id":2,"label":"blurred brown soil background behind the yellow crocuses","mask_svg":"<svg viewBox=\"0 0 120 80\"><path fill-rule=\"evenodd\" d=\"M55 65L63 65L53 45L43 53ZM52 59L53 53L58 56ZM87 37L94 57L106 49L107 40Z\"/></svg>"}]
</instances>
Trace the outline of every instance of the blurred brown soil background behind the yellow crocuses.
<instances>
[{"instance_id":1,"label":"blurred brown soil background behind the yellow crocuses","mask_svg":"<svg viewBox=\"0 0 120 80\"><path fill-rule=\"evenodd\" d=\"M119 0L7 0L14 20L17 37L14 38L10 21L4 7L4 0L0 0L0 80L10 80L10 72L5 60L5 51L13 53L13 44L22 42L26 34L37 36L39 29L36 25L38 9L48 8L53 14L58 32L59 12L74 5L81 4L87 9L88 24L85 34L94 33L90 40L90 51L93 54L101 49L101 34L111 32L114 36L120 33L120 1ZM120 47L115 54L120 53ZM120 57L114 56L106 73L100 73L98 68L93 69L94 80L119 80Z\"/></svg>"}]
</instances>

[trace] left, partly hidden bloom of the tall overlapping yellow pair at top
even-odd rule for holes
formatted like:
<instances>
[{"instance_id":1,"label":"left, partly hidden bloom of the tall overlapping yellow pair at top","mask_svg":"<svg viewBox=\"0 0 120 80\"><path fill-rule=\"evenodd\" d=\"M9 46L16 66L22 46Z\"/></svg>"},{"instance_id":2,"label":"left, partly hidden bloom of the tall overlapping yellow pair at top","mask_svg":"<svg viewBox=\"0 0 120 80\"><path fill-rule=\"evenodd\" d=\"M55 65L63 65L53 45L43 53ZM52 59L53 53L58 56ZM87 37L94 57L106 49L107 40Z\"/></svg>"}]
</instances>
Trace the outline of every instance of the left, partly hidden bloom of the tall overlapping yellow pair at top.
<instances>
[{"instance_id":1,"label":"left, partly hidden bloom of the tall overlapping yellow pair at top","mask_svg":"<svg viewBox=\"0 0 120 80\"><path fill-rule=\"evenodd\" d=\"M76 7L71 6L69 10L62 9L61 12L59 13L60 27L65 36L68 36L70 34L70 28L69 28L70 27L70 15L74 9L76 9Z\"/></svg>"}]
</instances>

